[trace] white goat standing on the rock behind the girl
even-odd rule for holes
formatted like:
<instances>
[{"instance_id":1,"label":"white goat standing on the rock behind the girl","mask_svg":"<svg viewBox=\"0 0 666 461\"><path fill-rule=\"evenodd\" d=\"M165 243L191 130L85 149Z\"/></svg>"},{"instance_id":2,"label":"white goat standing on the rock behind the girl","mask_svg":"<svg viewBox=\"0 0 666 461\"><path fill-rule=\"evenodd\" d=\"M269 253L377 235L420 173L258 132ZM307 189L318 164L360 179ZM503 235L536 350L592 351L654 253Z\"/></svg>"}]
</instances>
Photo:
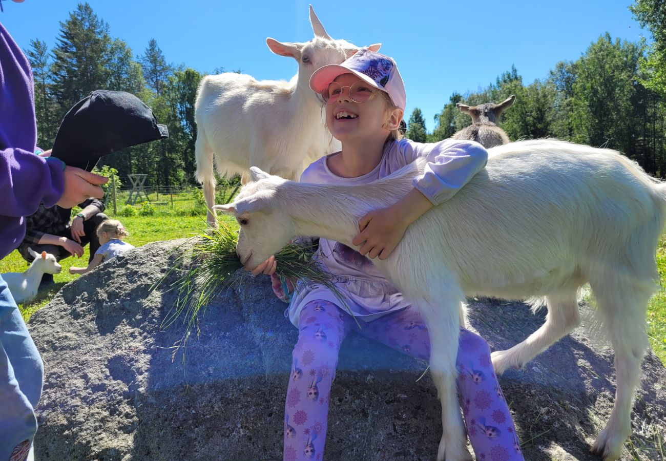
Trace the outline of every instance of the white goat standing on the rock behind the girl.
<instances>
[{"instance_id":1,"label":"white goat standing on the rock behind the girl","mask_svg":"<svg viewBox=\"0 0 666 461\"><path fill-rule=\"evenodd\" d=\"M308 83L316 69L340 64L359 48L332 39L312 6L310 23L314 39L306 43L266 39L270 51L298 61L298 73L290 81L257 81L237 73L202 79L194 107L196 179L203 185L208 210L215 199L213 157L223 177L246 175L251 166L256 166L298 180L310 163L340 150L340 143L326 128L323 102ZM369 48L377 51L380 46ZM214 225L210 211L208 223Z\"/></svg>"}]
</instances>

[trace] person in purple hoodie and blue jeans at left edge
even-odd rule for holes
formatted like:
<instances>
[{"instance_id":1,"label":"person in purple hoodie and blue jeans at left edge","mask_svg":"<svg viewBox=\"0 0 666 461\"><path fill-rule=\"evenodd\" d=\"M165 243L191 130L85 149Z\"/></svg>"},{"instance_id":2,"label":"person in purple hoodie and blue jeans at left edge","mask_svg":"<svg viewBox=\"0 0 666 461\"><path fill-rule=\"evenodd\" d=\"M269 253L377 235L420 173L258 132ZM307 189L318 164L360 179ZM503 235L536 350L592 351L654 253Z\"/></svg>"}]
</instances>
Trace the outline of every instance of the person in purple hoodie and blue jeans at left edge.
<instances>
[{"instance_id":1,"label":"person in purple hoodie and blue jeans at left edge","mask_svg":"<svg viewBox=\"0 0 666 461\"><path fill-rule=\"evenodd\" d=\"M107 178L35 155L36 143L33 74L0 23L0 259L19 246L24 217L41 203L71 208L104 195ZM0 276L0 461L32 458L42 382L41 357Z\"/></svg>"}]
</instances>

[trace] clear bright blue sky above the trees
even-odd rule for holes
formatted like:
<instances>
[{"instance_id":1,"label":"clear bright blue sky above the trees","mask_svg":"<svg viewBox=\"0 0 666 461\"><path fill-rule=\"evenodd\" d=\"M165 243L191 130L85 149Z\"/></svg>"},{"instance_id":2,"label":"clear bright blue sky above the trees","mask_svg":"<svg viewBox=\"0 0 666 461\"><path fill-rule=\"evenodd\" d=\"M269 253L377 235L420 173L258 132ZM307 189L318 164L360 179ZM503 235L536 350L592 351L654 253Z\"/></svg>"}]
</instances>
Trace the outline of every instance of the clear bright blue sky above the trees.
<instances>
[{"instance_id":1,"label":"clear bright blue sky above the trees","mask_svg":"<svg viewBox=\"0 0 666 461\"><path fill-rule=\"evenodd\" d=\"M59 21L75 0L3 1L0 21L19 45L55 45ZM168 62L198 71L240 69L257 79L289 79L296 61L273 55L266 37L308 41L308 1L91 0L113 37L135 54L155 38ZM577 59L606 31L638 41L631 0L319 1L326 31L356 45L382 43L398 63L407 91L406 118L420 107L428 131L454 91L486 87L515 65L523 83L547 77L555 63ZM472 5L471 7L468 5Z\"/></svg>"}]
</instances>

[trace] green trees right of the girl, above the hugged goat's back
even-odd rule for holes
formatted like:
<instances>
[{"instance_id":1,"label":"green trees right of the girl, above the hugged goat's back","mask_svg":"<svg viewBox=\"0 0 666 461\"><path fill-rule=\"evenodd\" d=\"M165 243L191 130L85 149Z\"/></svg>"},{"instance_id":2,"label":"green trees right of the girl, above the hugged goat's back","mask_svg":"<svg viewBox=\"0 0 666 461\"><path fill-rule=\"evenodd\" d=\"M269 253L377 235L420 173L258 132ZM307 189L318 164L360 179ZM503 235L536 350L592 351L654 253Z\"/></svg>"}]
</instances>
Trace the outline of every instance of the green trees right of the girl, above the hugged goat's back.
<instances>
[{"instance_id":1,"label":"green trees right of the girl, above the hugged goat's back","mask_svg":"<svg viewBox=\"0 0 666 461\"><path fill-rule=\"evenodd\" d=\"M511 141L554 137L617 149L647 173L666 175L666 0L638 0L630 7L652 34L631 43L608 33L591 43L576 61L561 61L544 79L525 85L515 69L476 93L453 93L426 133L414 109L406 137L434 142L472 123L456 103L498 103L515 95L500 118Z\"/></svg>"}]
</instances>

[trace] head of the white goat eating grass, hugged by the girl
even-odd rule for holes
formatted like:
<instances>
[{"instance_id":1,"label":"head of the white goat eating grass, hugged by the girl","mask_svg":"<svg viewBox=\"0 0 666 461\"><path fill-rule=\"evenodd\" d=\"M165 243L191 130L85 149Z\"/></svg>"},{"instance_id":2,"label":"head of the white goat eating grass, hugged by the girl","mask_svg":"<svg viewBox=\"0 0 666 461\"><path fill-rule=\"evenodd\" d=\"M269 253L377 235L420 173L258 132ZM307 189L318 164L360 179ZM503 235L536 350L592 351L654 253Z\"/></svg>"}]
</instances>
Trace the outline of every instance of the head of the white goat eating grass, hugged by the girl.
<instances>
[{"instance_id":1,"label":"head of the white goat eating grass, hugged by the girl","mask_svg":"<svg viewBox=\"0 0 666 461\"><path fill-rule=\"evenodd\" d=\"M295 234L294 221L279 209L278 189L286 180L257 167L250 168L250 179L234 203L213 207L236 217L240 226L236 254L248 270L288 244Z\"/></svg>"}]
</instances>

